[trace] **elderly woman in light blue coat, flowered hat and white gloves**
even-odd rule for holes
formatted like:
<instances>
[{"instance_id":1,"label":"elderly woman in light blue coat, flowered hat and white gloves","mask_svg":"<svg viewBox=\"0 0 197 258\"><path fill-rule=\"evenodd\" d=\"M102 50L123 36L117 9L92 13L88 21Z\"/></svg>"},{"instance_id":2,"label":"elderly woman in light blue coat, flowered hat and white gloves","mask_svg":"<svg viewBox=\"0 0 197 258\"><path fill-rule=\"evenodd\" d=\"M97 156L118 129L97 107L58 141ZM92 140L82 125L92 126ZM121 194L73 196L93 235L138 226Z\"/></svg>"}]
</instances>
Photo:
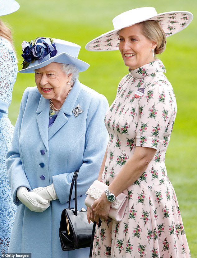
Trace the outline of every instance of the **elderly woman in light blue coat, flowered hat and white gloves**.
<instances>
[{"instance_id":1,"label":"elderly woman in light blue coat, flowered hat and white gloves","mask_svg":"<svg viewBox=\"0 0 197 258\"><path fill-rule=\"evenodd\" d=\"M60 217L68 207L74 171L79 169L78 209L85 206L85 192L98 177L108 144L108 101L77 79L78 72L89 67L77 58L79 45L40 37L23 41L22 50L20 72L35 72L37 87L23 94L7 153L13 201L18 205L9 253L88 257L89 248L62 251Z\"/></svg>"}]
</instances>

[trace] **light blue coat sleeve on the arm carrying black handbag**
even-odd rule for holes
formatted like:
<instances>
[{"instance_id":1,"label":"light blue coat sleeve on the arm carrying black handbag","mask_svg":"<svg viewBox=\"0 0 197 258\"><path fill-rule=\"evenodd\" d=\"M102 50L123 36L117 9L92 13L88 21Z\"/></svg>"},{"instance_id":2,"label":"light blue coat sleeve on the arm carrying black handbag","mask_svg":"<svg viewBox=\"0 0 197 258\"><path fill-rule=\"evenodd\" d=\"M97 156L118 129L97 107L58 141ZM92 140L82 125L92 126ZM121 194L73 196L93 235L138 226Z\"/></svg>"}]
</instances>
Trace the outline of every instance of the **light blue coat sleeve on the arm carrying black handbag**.
<instances>
[{"instance_id":1,"label":"light blue coat sleeve on the arm carrying black handbag","mask_svg":"<svg viewBox=\"0 0 197 258\"><path fill-rule=\"evenodd\" d=\"M80 171L77 178L78 196L84 195L89 186L98 178L106 146L109 141L109 134L104 123L107 110L108 101L103 95L95 95L91 99L87 116L83 121L83 123L86 123L85 148L83 149L80 146L81 151L83 151L83 160L81 160L83 163L79 167ZM74 150L74 148L72 149ZM73 174L74 171L53 176L55 192L62 204L69 200ZM72 195L73 197L74 193Z\"/></svg>"}]
</instances>

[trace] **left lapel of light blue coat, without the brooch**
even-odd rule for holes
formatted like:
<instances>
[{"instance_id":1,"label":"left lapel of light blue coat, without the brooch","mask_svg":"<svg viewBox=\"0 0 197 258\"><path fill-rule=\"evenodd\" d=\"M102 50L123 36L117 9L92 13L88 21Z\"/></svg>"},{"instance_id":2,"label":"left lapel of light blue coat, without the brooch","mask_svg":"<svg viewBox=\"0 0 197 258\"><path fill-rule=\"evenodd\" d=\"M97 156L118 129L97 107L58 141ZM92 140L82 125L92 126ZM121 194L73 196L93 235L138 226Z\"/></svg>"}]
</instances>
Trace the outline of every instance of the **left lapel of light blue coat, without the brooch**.
<instances>
[{"instance_id":1,"label":"left lapel of light blue coat, without the brooch","mask_svg":"<svg viewBox=\"0 0 197 258\"><path fill-rule=\"evenodd\" d=\"M36 120L38 123L40 136L46 149L48 150L49 100L45 99L43 96L40 97L36 114L38 114Z\"/></svg>"}]
</instances>

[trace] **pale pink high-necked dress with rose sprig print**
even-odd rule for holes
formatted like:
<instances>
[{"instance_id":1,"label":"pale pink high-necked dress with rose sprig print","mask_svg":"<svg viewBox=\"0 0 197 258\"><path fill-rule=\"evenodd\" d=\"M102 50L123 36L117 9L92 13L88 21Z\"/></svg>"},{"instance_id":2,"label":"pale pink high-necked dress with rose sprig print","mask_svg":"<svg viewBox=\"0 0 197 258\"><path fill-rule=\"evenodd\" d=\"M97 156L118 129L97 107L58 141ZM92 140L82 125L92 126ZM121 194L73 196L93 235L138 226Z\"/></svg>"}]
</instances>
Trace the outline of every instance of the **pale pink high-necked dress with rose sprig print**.
<instances>
[{"instance_id":1,"label":"pale pink high-necked dress with rose sprig print","mask_svg":"<svg viewBox=\"0 0 197 258\"><path fill-rule=\"evenodd\" d=\"M130 71L120 82L105 124L110 135L102 181L109 185L136 146L156 149L146 171L124 193L122 221L96 228L92 257L189 258L190 250L165 153L176 117L172 85L155 60Z\"/></svg>"}]
</instances>

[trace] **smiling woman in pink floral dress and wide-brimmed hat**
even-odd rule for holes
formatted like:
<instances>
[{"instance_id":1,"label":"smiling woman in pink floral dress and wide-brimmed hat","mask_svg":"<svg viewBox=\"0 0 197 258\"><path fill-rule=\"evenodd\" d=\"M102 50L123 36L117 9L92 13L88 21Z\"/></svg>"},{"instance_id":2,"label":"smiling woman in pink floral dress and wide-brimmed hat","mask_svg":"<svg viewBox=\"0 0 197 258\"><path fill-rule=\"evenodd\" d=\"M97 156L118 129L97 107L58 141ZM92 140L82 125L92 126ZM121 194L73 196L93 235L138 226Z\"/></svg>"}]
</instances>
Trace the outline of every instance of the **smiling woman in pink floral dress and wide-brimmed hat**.
<instances>
[{"instance_id":1,"label":"smiling woman in pink floral dress and wide-brimmed hat","mask_svg":"<svg viewBox=\"0 0 197 258\"><path fill-rule=\"evenodd\" d=\"M120 222L108 218L109 193L103 192L88 209L89 221L104 219L96 229L92 257L190 257L165 166L176 99L156 55L165 50L166 37L187 27L192 18L185 11L133 9L113 19L114 30L86 45L90 51L119 49L129 67L106 114L111 139L98 178L115 197L127 194L129 204Z\"/></svg>"}]
</instances>

